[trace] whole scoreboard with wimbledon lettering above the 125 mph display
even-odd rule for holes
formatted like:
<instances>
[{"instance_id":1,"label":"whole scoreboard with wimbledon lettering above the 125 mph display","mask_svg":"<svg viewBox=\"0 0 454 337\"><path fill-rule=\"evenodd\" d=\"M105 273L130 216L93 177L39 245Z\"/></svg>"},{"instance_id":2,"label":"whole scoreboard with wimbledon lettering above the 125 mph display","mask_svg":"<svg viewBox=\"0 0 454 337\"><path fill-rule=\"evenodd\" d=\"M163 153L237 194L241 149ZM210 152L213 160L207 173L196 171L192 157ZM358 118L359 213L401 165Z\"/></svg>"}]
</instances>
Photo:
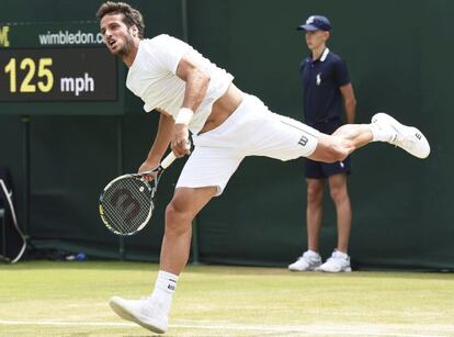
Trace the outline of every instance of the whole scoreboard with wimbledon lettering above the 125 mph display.
<instances>
[{"instance_id":1,"label":"whole scoreboard with wimbledon lettering above the 125 mph display","mask_svg":"<svg viewBox=\"0 0 454 337\"><path fill-rule=\"evenodd\" d=\"M0 114L123 114L124 78L98 22L0 23Z\"/></svg>"}]
</instances>

